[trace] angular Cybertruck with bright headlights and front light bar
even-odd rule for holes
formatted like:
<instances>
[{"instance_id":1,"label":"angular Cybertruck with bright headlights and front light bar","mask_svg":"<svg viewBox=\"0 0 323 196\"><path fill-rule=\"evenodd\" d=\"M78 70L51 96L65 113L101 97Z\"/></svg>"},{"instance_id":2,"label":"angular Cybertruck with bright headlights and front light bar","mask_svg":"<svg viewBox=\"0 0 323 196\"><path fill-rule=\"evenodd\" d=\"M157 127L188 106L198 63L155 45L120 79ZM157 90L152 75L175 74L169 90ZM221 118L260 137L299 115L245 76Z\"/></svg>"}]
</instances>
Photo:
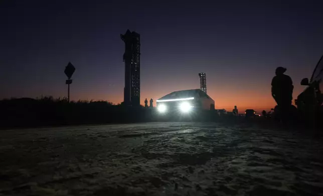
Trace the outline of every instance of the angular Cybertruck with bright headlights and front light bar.
<instances>
[{"instance_id":1,"label":"angular Cybertruck with bright headlights and front light bar","mask_svg":"<svg viewBox=\"0 0 323 196\"><path fill-rule=\"evenodd\" d=\"M214 110L214 100L201 89L179 90L156 100L159 113L190 113L194 110Z\"/></svg>"}]
</instances>

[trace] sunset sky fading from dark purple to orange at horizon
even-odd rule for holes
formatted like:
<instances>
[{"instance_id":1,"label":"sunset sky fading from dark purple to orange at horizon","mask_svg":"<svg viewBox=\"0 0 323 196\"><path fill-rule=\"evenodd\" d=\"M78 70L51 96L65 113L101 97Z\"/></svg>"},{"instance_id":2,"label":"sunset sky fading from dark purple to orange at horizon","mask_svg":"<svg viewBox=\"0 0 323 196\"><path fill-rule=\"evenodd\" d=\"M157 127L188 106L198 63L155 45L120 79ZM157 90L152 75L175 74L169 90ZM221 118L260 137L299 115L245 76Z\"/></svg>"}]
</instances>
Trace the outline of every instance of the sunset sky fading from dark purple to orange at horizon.
<instances>
[{"instance_id":1,"label":"sunset sky fading from dark purple to orange at horizon","mask_svg":"<svg viewBox=\"0 0 323 196\"><path fill-rule=\"evenodd\" d=\"M270 82L287 68L296 98L323 54L322 0L1 0L0 98L67 95L123 101L124 42L141 36L141 103L199 88L216 108L270 109Z\"/></svg>"}]
</instances>

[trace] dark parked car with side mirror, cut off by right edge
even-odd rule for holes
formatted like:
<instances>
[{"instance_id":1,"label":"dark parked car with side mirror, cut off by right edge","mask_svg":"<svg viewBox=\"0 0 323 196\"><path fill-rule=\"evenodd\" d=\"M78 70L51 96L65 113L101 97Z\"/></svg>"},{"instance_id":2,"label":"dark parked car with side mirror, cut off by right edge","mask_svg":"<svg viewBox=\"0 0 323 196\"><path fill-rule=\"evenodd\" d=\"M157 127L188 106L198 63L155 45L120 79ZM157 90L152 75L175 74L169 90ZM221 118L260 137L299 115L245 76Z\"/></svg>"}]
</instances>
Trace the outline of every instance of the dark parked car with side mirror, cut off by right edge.
<instances>
[{"instance_id":1,"label":"dark parked car with side mirror, cut off by right edge","mask_svg":"<svg viewBox=\"0 0 323 196\"><path fill-rule=\"evenodd\" d=\"M307 120L323 119L323 55L319 59L311 78L303 78L301 85L307 87L301 92L295 104L302 118Z\"/></svg>"}]
</instances>

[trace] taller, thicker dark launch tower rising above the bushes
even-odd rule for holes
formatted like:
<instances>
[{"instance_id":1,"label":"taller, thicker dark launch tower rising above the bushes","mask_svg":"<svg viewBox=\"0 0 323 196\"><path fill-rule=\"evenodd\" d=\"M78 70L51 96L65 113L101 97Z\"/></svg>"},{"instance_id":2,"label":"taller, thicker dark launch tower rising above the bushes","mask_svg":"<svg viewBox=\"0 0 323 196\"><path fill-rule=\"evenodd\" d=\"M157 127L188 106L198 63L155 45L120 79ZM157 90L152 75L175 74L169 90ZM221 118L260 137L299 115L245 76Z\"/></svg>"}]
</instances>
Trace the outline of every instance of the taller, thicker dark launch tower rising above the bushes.
<instances>
[{"instance_id":1,"label":"taller, thicker dark launch tower rising above the bushes","mask_svg":"<svg viewBox=\"0 0 323 196\"><path fill-rule=\"evenodd\" d=\"M124 96L126 105L140 105L140 34L127 29L120 34L125 43L124 61Z\"/></svg>"}]
</instances>

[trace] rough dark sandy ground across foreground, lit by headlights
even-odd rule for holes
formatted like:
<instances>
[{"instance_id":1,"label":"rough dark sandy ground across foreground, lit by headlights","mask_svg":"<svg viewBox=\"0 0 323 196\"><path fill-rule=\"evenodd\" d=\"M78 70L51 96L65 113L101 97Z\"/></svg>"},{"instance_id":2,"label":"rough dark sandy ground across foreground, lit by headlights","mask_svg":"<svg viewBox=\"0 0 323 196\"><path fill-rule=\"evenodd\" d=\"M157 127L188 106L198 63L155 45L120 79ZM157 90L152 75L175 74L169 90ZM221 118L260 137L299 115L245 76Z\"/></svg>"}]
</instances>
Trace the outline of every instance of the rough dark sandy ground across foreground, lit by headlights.
<instances>
[{"instance_id":1,"label":"rough dark sandy ground across foreground, lit by headlights","mask_svg":"<svg viewBox=\"0 0 323 196\"><path fill-rule=\"evenodd\" d=\"M0 195L323 195L323 140L306 133L159 122L0 139Z\"/></svg>"}]
</instances>

